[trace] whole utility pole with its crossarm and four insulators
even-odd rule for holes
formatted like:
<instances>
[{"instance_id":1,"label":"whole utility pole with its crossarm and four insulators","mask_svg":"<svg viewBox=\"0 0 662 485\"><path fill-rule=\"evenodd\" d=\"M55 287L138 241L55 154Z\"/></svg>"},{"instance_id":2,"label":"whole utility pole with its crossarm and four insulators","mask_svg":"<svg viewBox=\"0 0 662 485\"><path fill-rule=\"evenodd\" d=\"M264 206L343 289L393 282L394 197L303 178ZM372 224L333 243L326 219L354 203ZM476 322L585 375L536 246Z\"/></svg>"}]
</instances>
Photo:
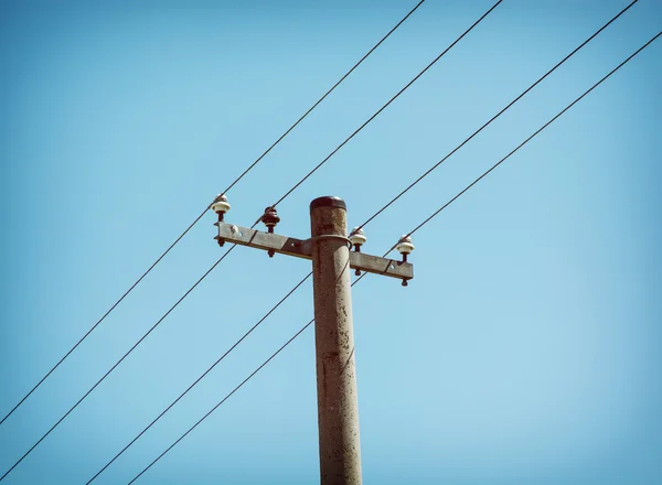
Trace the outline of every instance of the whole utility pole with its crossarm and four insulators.
<instances>
[{"instance_id":1,"label":"whole utility pole with its crossarm and four insulators","mask_svg":"<svg viewBox=\"0 0 662 485\"><path fill-rule=\"evenodd\" d=\"M221 246L228 241L266 250L270 257L278 252L312 260L321 485L360 485L350 269L398 278L406 285L414 277L406 261L414 246L408 238L401 239L402 261L361 252L366 239L361 229L346 236L346 205L340 197L311 202L311 237L307 240L274 234L280 222L274 207L267 207L260 219L267 233L225 223L229 204L224 195L216 197L211 208L218 214L215 239ZM352 246L354 251L350 250Z\"/></svg>"}]
</instances>

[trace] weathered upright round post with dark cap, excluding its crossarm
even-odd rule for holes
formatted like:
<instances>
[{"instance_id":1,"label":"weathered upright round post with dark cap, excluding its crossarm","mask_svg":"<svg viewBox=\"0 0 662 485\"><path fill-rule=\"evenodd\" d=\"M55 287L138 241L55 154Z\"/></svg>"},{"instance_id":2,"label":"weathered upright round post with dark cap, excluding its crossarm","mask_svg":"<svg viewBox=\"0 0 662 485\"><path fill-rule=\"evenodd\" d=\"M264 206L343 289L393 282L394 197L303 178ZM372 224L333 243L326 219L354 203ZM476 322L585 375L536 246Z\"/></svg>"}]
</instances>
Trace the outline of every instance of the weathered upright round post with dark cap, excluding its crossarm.
<instances>
[{"instance_id":1,"label":"weathered upright round post with dark cap, excluding its crossarm","mask_svg":"<svg viewBox=\"0 0 662 485\"><path fill-rule=\"evenodd\" d=\"M339 197L310 204L321 485L361 484L346 206ZM322 237L320 237L322 236Z\"/></svg>"}]
</instances>

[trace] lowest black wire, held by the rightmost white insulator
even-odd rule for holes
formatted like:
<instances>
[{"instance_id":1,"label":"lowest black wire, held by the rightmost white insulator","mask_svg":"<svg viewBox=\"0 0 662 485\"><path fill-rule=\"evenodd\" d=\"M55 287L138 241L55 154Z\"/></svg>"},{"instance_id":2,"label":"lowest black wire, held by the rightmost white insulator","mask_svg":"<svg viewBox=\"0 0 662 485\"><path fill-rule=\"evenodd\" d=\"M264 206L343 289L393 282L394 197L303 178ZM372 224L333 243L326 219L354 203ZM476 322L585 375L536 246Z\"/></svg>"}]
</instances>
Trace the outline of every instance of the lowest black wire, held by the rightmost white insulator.
<instances>
[{"instance_id":1,"label":"lowest black wire, held by the rightmost white insulator","mask_svg":"<svg viewBox=\"0 0 662 485\"><path fill-rule=\"evenodd\" d=\"M471 184L469 184L466 188L463 188L460 193L458 193L455 197L452 197L448 203L446 203L444 206L441 206L438 211L436 211L431 216L429 216L427 219L425 219L421 224L419 224L418 226L416 226L414 228L414 230L412 230L409 233L409 236L413 235L415 231L417 231L418 229L420 229L425 224L427 224L428 222L430 222L437 214L439 214L441 211L444 211L446 207L448 207L452 202L455 202L457 198L459 198L462 194L465 194L469 188L471 188L473 185L476 185L480 180L482 180L488 173L490 173L492 170L494 170L496 166L499 166L503 161L505 161L509 157L511 157L513 153L515 153L519 149L521 149L522 147L524 147L524 144L526 144L528 141L531 141L535 136L537 136L541 131L543 131L545 128L547 128L552 122L554 122L556 119L558 119L563 114L565 114L568 109L570 109L573 106L575 106L579 100L581 100L586 95L588 95L590 91L592 91L596 87L598 87L600 84L602 84L602 82L605 82L608 77L610 77L612 74L615 74L618 69L620 69L623 65L626 65L630 60L632 60L637 54L639 54L641 51L643 51L645 47L648 47L653 41L655 41L659 36L662 35L662 32L658 33L654 37L652 37L650 41L648 41L643 46L641 46L639 50L637 50L632 55L630 55L628 58L626 58L622 63L620 63L617 67L615 67L611 72L609 72L605 77L602 77L600 80L598 80L596 84L594 84L589 89L587 89L581 96L579 96L578 98L576 98L573 103L570 103L567 107L565 107L562 111L559 111L554 118L552 118L549 121L547 121L545 125L543 125L538 130L536 130L532 136L530 136L526 140L524 140L522 143L520 143L514 150L512 150L508 155L505 155L503 159L501 159L499 162L496 162L490 170L488 170L487 172L484 172L481 176L479 176L477 180L474 180ZM386 251L384 254L384 257L386 257L386 255L388 255L388 252L391 252L393 249L395 248L392 247L388 251ZM354 284L356 284L359 281L361 281L363 279L363 277L365 277L365 274L367 273L363 273L360 278L357 278L353 283L352 287ZM274 354L271 354L271 356L269 358L267 358L259 367L257 367L257 369L255 369L246 379L244 379L237 387L235 387L227 396L225 396L218 403L216 403L216 406L214 406L206 414L204 414L200 420L197 420L195 422L195 424L193 424L191 428L189 428L189 430L186 430L186 432L184 432L180 438L177 439L177 441L174 441L174 443L172 443L170 446L168 446L168 449L166 449L166 451L163 451L159 456L157 456L147 467L145 467L138 475L136 475L134 477L134 479L131 479L131 482L129 482L129 485L132 484L134 482L136 482L142 474L145 474L151 466L153 466L161 457L163 457L170 450L172 450L180 441L182 441L191 431L193 431L193 429L195 429L200 423L202 423L202 421L204 421L209 416L212 414L212 412L214 412L221 405L223 405L232 395L234 395L242 386L244 386L248 380L250 380L259 370L261 370L267 364L269 364L269 362L271 362L274 359L274 357L276 357L285 347L287 347L289 344L291 344L301 333L303 333L303 331L306 328L308 328L312 322L314 322L314 320L311 320L310 322L308 322L306 325L303 325L303 327L301 327L289 341L287 341L282 346L280 346Z\"/></svg>"}]
</instances>

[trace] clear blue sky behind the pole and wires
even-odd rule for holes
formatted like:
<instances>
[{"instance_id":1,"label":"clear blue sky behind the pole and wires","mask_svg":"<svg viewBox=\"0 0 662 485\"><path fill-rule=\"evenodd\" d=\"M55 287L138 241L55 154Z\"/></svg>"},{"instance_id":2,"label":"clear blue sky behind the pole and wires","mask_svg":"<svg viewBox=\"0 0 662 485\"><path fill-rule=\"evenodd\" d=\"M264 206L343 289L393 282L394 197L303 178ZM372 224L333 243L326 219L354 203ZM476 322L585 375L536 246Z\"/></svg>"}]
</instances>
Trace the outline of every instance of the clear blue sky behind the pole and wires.
<instances>
[{"instance_id":1,"label":"clear blue sky behind the pole and wires","mask_svg":"<svg viewBox=\"0 0 662 485\"><path fill-rule=\"evenodd\" d=\"M0 414L415 1L0 2ZM425 2L233 188L249 226L492 1ZM365 220L627 0L505 0L279 205ZM382 255L662 30L641 0L366 227ZM662 40L354 288L366 484L662 483ZM213 214L0 427L11 466L221 256ZM237 248L4 481L85 483L308 271ZM95 483L127 483L312 316L297 291ZM137 483L319 481L308 330Z\"/></svg>"}]
</instances>

